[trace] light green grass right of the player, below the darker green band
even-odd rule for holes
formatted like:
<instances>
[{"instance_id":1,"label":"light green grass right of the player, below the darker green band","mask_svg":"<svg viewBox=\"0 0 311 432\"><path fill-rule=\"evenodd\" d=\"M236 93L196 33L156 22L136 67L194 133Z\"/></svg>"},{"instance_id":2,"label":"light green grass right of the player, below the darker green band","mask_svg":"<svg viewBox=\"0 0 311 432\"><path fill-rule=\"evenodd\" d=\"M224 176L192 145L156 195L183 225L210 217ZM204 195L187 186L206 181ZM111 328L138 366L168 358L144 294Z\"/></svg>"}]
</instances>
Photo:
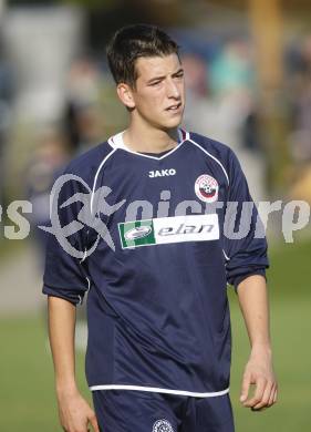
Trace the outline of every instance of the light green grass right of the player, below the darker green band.
<instances>
[{"instance_id":1,"label":"light green grass right of the player, below the darker green band","mask_svg":"<svg viewBox=\"0 0 311 432\"><path fill-rule=\"evenodd\" d=\"M238 401L249 343L236 301L231 305L234 361L230 394L237 432L307 432L311 421L310 301L302 296L292 300L273 299L271 310L273 363L279 381L279 398L273 408L256 413Z\"/></svg>"}]
</instances>

